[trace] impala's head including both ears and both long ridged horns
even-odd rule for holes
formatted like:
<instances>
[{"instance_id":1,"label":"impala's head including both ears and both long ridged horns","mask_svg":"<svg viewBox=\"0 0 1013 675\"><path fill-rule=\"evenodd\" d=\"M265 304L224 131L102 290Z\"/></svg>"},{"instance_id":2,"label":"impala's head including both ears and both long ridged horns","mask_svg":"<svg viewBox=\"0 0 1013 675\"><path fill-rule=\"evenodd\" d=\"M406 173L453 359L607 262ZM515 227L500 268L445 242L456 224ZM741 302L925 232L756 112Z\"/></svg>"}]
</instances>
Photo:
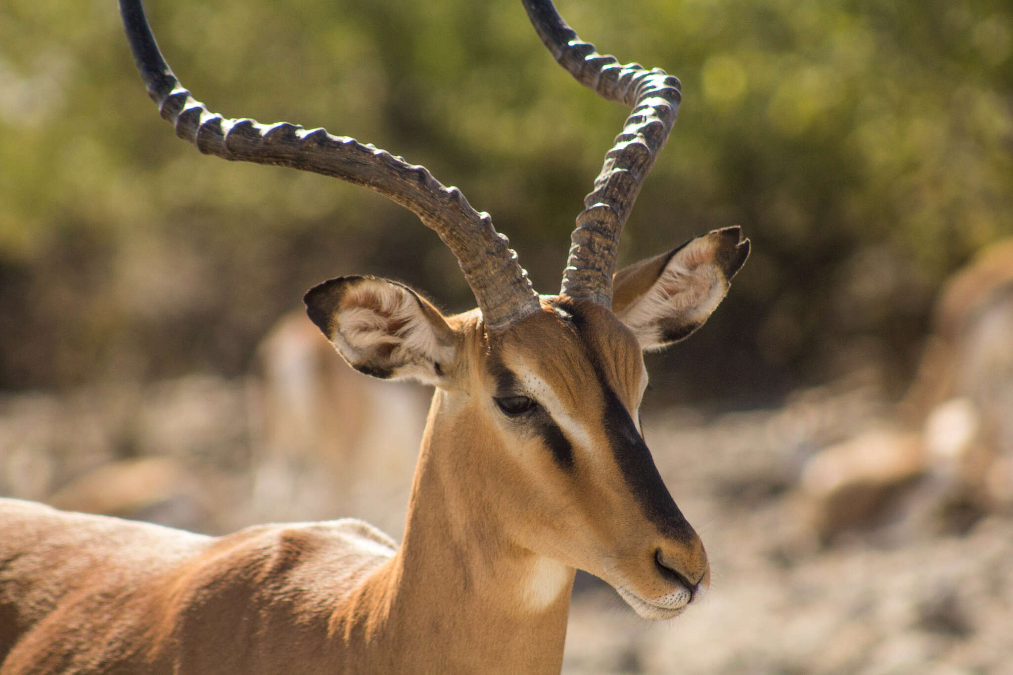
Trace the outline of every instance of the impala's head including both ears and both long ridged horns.
<instances>
[{"instance_id":1,"label":"impala's head including both ears and both long ridged horns","mask_svg":"<svg viewBox=\"0 0 1013 675\"><path fill-rule=\"evenodd\" d=\"M177 135L227 159L366 185L440 234L478 309L445 317L407 286L345 276L306 293L310 318L360 371L438 388L428 435L462 455L455 461L467 467L468 489L488 513L506 514L518 545L605 579L642 616L668 618L710 573L643 440L642 353L706 321L749 240L738 228L714 231L613 274L622 226L675 122L679 81L600 56L547 0L524 4L565 70L633 108L577 216L556 296L536 293L488 215L424 168L323 130L209 112L178 86L138 0L121 0L121 9L149 93Z\"/></svg>"}]
</instances>

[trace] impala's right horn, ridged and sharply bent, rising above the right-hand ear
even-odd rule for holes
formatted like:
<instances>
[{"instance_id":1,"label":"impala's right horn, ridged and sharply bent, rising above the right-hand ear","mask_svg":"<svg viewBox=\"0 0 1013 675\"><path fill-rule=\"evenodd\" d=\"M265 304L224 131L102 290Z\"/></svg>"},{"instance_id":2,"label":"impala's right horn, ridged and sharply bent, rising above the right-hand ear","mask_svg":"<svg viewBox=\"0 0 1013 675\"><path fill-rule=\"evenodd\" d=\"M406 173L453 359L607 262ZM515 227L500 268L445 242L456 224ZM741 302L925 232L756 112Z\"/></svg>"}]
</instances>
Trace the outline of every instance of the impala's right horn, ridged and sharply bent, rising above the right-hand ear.
<instances>
[{"instance_id":1,"label":"impala's right horn, ridged and sharply bent, rising above the right-hand ear","mask_svg":"<svg viewBox=\"0 0 1013 675\"><path fill-rule=\"evenodd\" d=\"M609 307L619 236L676 121L682 101L679 79L657 68L620 65L580 41L550 0L523 1L539 37L566 72L602 97L633 108L605 156L594 191L583 199L563 272L562 292Z\"/></svg>"}]
</instances>

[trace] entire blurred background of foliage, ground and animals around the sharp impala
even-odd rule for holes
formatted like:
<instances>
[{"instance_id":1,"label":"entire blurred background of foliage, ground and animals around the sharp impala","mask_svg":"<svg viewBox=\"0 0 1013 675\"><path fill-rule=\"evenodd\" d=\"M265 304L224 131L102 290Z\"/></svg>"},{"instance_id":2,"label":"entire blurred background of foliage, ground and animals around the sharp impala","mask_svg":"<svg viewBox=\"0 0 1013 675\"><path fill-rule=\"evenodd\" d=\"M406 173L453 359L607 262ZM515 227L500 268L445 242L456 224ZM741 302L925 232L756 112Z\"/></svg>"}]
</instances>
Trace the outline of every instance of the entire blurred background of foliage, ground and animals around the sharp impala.
<instances>
[{"instance_id":1,"label":"entire blurred background of foliage, ground and animals around the sharp impala","mask_svg":"<svg viewBox=\"0 0 1013 675\"><path fill-rule=\"evenodd\" d=\"M711 598L646 625L581 577L566 672L1013 673L1013 7L559 9L683 82L620 262L728 225L753 240L707 326L648 358L647 440L703 530ZM626 111L553 63L520 3L148 11L211 109L424 164L558 287ZM410 213L175 139L111 0L0 6L0 494L398 534L428 394L353 373L290 315L347 273L473 305Z\"/></svg>"}]
</instances>

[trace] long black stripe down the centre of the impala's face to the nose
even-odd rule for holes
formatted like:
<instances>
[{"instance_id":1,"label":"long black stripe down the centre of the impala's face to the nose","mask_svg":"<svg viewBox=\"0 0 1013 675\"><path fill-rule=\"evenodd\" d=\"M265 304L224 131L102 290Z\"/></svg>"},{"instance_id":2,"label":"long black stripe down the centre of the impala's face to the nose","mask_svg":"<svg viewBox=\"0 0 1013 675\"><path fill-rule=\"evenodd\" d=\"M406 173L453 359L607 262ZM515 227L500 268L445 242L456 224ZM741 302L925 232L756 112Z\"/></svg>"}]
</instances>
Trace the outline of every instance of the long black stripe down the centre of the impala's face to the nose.
<instances>
[{"instance_id":1,"label":"long black stripe down the centre of the impala's face to the nose","mask_svg":"<svg viewBox=\"0 0 1013 675\"><path fill-rule=\"evenodd\" d=\"M657 473L657 467L654 466L654 458L637 432L626 406L606 381L605 369L598 359L597 352L581 330L586 325L583 318L573 305L569 303L560 305L573 316L573 326L585 343L588 360L598 375L605 398L605 409L602 413L605 433L626 485L640 503L640 510L644 516L654 523L658 531L674 539L691 542L695 536L693 527L676 506L676 501L672 499L672 494Z\"/></svg>"}]
</instances>

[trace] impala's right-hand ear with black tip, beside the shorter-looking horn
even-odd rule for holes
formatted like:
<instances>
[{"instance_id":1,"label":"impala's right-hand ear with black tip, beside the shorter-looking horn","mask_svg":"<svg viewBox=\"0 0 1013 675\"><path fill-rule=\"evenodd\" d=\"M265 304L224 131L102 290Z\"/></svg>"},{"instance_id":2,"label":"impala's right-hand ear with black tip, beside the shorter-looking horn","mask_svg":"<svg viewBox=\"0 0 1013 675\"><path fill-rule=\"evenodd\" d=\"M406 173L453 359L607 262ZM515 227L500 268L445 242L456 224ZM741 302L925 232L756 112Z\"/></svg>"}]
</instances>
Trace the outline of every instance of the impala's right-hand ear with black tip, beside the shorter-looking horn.
<instances>
[{"instance_id":1,"label":"impala's right-hand ear with black tip, beside the shorter-looking horn","mask_svg":"<svg viewBox=\"0 0 1013 675\"><path fill-rule=\"evenodd\" d=\"M750 254L735 228L714 230L612 278L612 311L642 349L659 349L700 328L728 292Z\"/></svg>"}]
</instances>

